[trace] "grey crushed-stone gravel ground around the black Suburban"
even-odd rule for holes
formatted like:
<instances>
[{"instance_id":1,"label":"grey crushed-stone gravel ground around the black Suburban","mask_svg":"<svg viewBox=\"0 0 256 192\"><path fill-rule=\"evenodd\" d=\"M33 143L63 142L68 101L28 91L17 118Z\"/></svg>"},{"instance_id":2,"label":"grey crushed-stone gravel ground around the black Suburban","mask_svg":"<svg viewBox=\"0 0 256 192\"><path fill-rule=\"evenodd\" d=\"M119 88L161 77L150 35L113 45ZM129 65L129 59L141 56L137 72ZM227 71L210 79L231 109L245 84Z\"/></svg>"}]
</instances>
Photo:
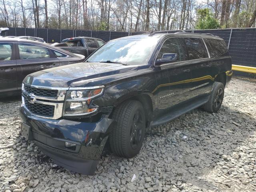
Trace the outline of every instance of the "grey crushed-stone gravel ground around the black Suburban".
<instances>
[{"instance_id":1,"label":"grey crushed-stone gravel ground around the black Suburban","mask_svg":"<svg viewBox=\"0 0 256 192\"><path fill-rule=\"evenodd\" d=\"M233 78L218 113L197 109L147 130L135 158L106 152L94 176L57 166L21 138L20 103L0 102L0 191L256 191L256 82Z\"/></svg>"}]
</instances>

